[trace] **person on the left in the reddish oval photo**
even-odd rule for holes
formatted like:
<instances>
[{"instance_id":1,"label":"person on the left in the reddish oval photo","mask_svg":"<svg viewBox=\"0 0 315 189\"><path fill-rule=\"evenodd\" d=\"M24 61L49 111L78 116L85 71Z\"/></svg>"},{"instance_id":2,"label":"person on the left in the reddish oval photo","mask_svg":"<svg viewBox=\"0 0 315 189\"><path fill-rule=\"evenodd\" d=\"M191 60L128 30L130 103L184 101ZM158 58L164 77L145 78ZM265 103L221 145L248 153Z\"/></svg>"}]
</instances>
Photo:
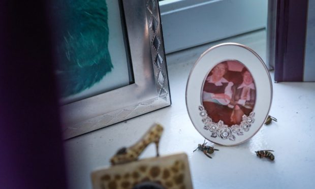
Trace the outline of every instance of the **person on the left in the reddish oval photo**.
<instances>
[{"instance_id":1,"label":"person on the left in the reddish oval photo","mask_svg":"<svg viewBox=\"0 0 315 189\"><path fill-rule=\"evenodd\" d=\"M233 83L223 77L227 71L227 62L217 64L211 70L211 75L207 77L204 84L202 101L212 121L222 120L225 124L232 124L230 120L232 109L227 105L232 98Z\"/></svg>"}]
</instances>

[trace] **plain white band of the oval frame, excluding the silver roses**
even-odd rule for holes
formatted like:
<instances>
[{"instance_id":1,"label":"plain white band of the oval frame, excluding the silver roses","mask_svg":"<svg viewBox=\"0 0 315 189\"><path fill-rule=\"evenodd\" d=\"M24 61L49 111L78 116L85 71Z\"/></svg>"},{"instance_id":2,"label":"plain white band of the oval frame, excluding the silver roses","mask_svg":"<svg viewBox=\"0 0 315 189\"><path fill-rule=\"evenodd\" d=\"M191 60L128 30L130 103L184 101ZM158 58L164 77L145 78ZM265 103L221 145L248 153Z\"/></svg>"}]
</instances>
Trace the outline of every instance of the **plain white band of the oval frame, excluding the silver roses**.
<instances>
[{"instance_id":1,"label":"plain white band of the oval frame, excluding the silver roses","mask_svg":"<svg viewBox=\"0 0 315 189\"><path fill-rule=\"evenodd\" d=\"M256 84L256 103L253 109L255 121L243 135L235 140L211 137L211 132L204 129L199 106L202 105L201 92L209 71L219 62L237 60L251 73ZM196 130L207 140L225 146L241 144L253 137L264 124L272 102L272 83L267 67L260 56L250 48L237 43L223 43L206 50L196 61L188 77L186 86L186 107Z\"/></svg>"}]
</instances>

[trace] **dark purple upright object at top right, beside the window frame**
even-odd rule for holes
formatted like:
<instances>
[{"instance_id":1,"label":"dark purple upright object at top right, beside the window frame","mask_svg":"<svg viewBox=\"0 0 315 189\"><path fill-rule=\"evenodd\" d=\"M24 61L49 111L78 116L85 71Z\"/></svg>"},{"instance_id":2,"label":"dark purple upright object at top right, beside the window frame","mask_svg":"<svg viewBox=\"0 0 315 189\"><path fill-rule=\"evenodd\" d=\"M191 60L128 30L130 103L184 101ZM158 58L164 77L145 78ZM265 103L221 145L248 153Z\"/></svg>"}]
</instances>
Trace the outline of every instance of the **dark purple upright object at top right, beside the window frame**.
<instances>
[{"instance_id":1,"label":"dark purple upright object at top right, beside the window frame","mask_svg":"<svg viewBox=\"0 0 315 189\"><path fill-rule=\"evenodd\" d=\"M309 72L315 69L308 61L315 53L308 53L312 47L307 45L315 40L314 29L308 26L313 23L310 2L314 1L268 2L267 63L269 68L274 67L276 82L315 81L314 76L309 77Z\"/></svg>"}]
</instances>

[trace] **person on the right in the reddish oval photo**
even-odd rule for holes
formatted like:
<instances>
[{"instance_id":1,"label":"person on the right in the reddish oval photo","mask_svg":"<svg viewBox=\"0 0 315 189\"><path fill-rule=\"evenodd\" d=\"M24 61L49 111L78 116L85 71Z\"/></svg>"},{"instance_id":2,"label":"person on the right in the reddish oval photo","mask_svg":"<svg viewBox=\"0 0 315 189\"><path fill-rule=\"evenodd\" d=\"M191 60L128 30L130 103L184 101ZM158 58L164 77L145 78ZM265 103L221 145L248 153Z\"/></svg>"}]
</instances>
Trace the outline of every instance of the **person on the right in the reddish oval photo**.
<instances>
[{"instance_id":1,"label":"person on the right in the reddish oval photo","mask_svg":"<svg viewBox=\"0 0 315 189\"><path fill-rule=\"evenodd\" d=\"M253 76L251 76L246 68L242 69L241 75L243 82L232 87L233 96L229 104L229 107L234 109L231 114L231 122L233 124L239 124L244 114L248 115L253 111L256 100L256 88Z\"/></svg>"}]
</instances>

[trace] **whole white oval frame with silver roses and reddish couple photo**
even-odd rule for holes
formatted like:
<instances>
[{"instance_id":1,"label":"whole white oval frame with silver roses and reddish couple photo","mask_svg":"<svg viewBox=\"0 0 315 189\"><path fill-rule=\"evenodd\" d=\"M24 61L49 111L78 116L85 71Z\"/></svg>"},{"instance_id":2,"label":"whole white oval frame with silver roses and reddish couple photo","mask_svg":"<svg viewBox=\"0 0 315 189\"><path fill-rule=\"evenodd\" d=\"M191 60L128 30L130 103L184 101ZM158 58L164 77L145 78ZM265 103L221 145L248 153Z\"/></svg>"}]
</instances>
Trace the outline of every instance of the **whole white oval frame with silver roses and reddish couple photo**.
<instances>
[{"instance_id":1,"label":"whole white oval frame with silver roses and reddish couple photo","mask_svg":"<svg viewBox=\"0 0 315 189\"><path fill-rule=\"evenodd\" d=\"M264 124L271 101L264 61L241 44L209 48L188 76L188 115L196 130L216 144L234 146L253 137Z\"/></svg>"}]
</instances>

